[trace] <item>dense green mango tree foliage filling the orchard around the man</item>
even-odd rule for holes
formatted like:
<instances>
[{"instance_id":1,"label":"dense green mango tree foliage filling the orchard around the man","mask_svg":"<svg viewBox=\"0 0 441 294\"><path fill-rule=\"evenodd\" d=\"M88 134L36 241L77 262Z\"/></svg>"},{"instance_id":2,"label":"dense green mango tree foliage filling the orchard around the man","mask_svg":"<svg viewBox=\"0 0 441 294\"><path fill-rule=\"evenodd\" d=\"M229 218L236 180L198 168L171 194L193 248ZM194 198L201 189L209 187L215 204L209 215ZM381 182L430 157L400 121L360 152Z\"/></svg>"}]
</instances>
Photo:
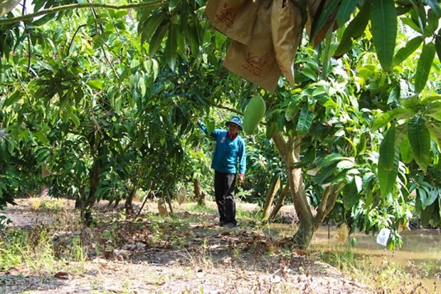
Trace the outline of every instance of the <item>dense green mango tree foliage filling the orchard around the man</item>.
<instances>
[{"instance_id":1,"label":"dense green mango tree foliage filling the orchard around the man","mask_svg":"<svg viewBox=\"0 0 441 294\"><path fill-rule=\"evenodd\" d=\"M230 41L206 21L205 2L34 0L35 14L5 14L0 207L50 187L90 222L100 199L145 190L170 202L180 182L209 187L212 145L195 117L221 126L259 94L265 125L246 137L243 189L262 197L282 179L299 243L326 218L390 227L391 244L414 212L440 226L436 1L329 1L303 35L296 86L281 78L275 93L222 67Z\"/></svg>"}]
</instances>

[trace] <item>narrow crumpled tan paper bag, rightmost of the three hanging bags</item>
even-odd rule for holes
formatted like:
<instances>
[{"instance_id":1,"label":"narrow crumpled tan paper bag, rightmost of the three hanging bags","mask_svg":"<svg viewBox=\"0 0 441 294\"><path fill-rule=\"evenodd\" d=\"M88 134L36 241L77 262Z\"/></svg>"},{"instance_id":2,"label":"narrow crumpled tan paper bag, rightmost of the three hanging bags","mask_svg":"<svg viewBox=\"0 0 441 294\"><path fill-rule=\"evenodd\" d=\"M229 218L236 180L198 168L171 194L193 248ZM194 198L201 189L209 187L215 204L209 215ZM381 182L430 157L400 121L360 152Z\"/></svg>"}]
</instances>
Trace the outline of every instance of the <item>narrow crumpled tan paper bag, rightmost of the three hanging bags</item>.
<instances>
[{"instance_id":1,"label":"narrow crumpled tan paper bag, rightmost of the three hanging bags","mask_svg":"<svg viewBox=\"0 0 441 294\"><path fill-rule=\"evenodd\" d=\"M294 61L302 33L302 8L297 0L273 0L272 42L280 70L294 85Z\"/></svg>"}]
</instances>

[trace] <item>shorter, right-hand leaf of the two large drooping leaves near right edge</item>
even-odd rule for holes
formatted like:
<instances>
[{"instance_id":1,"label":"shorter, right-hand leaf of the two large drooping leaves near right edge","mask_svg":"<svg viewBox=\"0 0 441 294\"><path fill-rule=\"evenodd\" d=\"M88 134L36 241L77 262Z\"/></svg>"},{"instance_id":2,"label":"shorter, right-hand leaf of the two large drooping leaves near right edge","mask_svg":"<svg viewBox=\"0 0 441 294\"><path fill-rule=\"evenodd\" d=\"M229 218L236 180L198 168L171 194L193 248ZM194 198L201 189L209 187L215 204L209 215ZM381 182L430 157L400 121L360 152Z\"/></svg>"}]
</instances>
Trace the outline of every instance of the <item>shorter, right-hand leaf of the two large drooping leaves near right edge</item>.
<instances>
[{"instance_id":1,"label":"shorter, right-hand leaf of the two large drooping leaves near right edge","mask_svg":"<svg viewBox=\"0 0 441 294\"><path fill-rule=\"evenodd\" d=\"M430 163L430 132L423 117L414 117L408 122L408 137L415 162L425 172Z\"/></svg>"}]
</instances>

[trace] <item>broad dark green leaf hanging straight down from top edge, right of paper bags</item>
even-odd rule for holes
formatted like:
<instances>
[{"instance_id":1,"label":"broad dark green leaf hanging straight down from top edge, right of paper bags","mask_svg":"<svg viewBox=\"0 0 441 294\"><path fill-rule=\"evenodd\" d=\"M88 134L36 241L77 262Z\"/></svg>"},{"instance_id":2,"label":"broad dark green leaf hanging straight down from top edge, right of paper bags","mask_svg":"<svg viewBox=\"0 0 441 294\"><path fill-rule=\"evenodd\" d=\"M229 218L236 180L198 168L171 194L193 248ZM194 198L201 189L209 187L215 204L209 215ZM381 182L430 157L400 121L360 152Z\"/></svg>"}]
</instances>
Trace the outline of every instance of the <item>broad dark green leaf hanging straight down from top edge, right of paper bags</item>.
<instances>
[{"instance_id":1,"label":"broad dark green leaf hanging straight down from top edge, right of paper bags","mask_svg":"<svg viewBox=\"0 0 441 294\"><path fill-rule=\"evenodd\" d=\"M372 1L370 15L373 46L375 46L381 67L388 70L392 65L397 36L397 11L394 1Z\"/></svg>"}]
</instances>

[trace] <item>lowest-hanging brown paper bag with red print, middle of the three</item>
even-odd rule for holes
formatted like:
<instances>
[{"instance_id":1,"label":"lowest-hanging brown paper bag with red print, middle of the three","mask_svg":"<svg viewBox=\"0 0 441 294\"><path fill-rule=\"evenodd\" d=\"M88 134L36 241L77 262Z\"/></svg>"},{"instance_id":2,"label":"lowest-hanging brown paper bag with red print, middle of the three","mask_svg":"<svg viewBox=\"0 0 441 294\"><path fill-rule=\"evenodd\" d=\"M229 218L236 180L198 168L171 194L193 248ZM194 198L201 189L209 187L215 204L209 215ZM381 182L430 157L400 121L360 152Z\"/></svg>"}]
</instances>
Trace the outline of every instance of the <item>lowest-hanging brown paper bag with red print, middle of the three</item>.
<instances>
[{"instance_id":1,"label":"lowest-hanging brown paper bag with red print, middle of the three","mask_svg":"<svg viewBox=\"0 0 441 294\"><path fill-rule=\"evenodd\" d=\"M272 0L260 0L250 42L233 41L223 66L261 88L274 92L280 78L271 33Z\"/></svg>"}]
</instances>

